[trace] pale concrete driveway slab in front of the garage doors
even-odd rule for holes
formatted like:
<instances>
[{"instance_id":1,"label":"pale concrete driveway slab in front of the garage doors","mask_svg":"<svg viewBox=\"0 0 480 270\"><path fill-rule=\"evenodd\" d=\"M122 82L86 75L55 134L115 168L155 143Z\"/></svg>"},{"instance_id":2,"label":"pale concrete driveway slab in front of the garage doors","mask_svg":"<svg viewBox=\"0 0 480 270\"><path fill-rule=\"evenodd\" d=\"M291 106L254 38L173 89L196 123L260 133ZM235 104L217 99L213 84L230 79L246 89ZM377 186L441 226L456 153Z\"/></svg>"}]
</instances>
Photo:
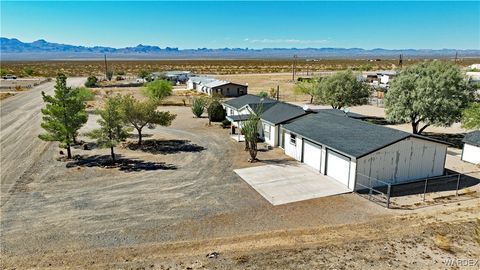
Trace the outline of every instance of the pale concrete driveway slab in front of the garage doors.
<instances>
[{"instance_id":1,"label":"pale concrete driveway slab in front of the garage doors","mask_svg":"<svg viewBox=\"0 0 480 270\"><path fill-rule=\"evenodd\" d=\"M234 171L273 205L351 192L305 164L265 165Z\"/></svg>"}]
</instances>

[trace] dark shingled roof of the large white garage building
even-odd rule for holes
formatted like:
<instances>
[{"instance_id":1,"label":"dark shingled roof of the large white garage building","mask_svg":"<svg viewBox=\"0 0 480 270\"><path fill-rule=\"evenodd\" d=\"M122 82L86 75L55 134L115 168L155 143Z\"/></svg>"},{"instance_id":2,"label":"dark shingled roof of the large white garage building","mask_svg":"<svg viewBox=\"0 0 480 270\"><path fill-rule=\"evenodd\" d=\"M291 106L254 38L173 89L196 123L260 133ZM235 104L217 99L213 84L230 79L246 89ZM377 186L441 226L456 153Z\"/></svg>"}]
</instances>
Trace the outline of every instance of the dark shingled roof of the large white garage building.
<instances>
[{"instance_id":1,"label":"dark shingled roof of the large white garage building","mask_svg":"<svg viewBox=\"0 0 480 270\"><path fill-rule=\"evenodd\" d=\"M292 120L283 126L293 133L355 158L368 155L408 137L432 141L422 136L322 110Z\"/></svg>"}]
</instances>

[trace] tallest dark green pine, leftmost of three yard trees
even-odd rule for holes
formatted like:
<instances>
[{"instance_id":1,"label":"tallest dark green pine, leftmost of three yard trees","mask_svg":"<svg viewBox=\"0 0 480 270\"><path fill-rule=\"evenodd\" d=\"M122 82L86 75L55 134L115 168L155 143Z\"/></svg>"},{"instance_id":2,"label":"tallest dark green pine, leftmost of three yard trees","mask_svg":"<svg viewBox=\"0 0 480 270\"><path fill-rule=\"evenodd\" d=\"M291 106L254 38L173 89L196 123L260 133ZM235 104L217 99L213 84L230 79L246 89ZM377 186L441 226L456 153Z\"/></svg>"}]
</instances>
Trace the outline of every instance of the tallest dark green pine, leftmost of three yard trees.
<instances>
[{"instance_id":1,"label":"tallest dark green pine, leftmost of three yard trees","mask_svg":"<svg viewBox=\"0 0 480 270\"><path fill-rule=\"evenodd\" d=\"M58 141L60 146L67 149L67 157L72 158L70 145L75 142L78 130L87 122L85 100L78 93L67 87L67 77L57 75L53 96L42 92L46 103L42 109L42 128L46 133L39 135L45 141Z\"/></svg>"}]
</instances>

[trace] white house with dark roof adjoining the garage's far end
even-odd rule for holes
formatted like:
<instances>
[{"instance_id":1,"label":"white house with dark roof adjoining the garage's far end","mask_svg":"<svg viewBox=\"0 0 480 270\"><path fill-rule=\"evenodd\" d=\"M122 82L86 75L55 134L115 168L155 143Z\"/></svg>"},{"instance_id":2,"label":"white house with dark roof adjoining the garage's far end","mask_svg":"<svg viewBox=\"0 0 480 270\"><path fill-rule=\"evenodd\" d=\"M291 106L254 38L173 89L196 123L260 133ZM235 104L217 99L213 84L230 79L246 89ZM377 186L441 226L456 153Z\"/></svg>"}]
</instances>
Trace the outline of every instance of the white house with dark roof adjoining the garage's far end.
<instances>
[{"instance_id":1,"label":"white house with dark roof adjoining the garage's far end","mask_svg":"<svg viewBox=\"0 0 480 270\"><path fill-rule=\"evenodd\" d=\"M233 134L235 128L241 129L242 122L248 120L250 114L260 113L259 137L272 147L280 143L280 124L308 113L302 107L255 95L230 99L223 103L223 107L226 118L234 127Z\"/></svg>"}]
</instances>

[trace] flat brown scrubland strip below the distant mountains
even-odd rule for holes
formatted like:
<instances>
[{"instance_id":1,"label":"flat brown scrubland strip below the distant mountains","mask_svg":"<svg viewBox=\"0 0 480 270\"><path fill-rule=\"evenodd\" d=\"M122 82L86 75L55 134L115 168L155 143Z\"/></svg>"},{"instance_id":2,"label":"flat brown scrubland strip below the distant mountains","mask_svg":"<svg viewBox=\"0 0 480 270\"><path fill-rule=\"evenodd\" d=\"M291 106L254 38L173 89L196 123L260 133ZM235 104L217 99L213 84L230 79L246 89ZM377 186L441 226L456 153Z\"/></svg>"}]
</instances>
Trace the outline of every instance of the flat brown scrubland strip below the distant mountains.
<instances>
[{"instance_id":1,"label":"flat brown scrubland strip below the distant mountains","mask_svg":"<svg viewBox=\"0 0 480 270\"><path fill-rule=\"evenodd\" d=\"M404 60L404 65L410 65L419 60ZM478 63L480 59L462 59L459 64L467 66ZM25 68L31 68L35 76L53 77L58 72L67 76L102 75L105 72L103 61L32 61L32 62L2 62L2 69L8 73L22 76ZM353 69L379 70L397 68L398 60L298 60L297 71L302 74L319 71ZM189 70L198 74L251 74L291 72L291 60L112 60L108 62L109 69L115 72L125 72L136 75L140 70L165 71Z\"/></svg>"}]
</instances>

